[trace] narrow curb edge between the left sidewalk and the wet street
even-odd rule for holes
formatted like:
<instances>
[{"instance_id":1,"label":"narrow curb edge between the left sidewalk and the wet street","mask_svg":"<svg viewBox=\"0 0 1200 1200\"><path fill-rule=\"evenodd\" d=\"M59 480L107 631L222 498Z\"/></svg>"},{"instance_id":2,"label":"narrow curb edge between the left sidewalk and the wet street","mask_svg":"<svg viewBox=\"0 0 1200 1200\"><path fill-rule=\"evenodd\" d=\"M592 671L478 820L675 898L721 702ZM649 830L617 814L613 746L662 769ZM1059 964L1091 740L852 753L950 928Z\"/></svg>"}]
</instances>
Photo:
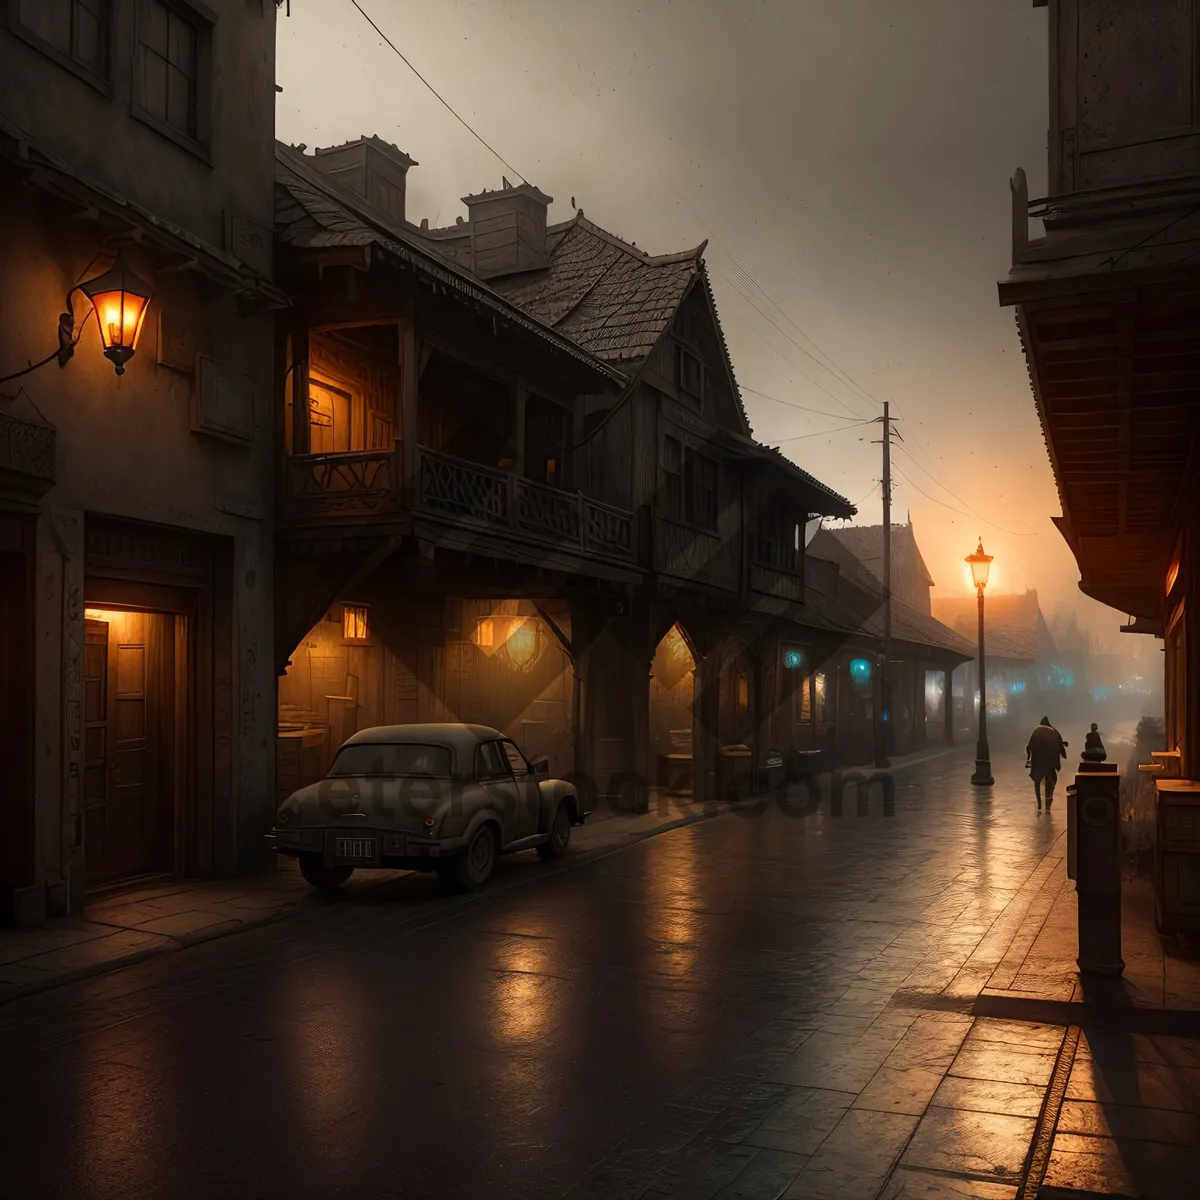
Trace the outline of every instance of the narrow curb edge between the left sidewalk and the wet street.
<instances>
[{"instance_id":1,"label":"narrow curb edge between the left sidewalk and the wet street","mask_svg":"<svg viewBox=\"0 0 1200 1200\"><path fill-rule=\"evenodd\" d=\"M920 763L929 762L934 758L947 757L953 752L954 746L947 746L943 750L932 751L931 754L922 755L908 762L894 763L893 766L884 768L887 770L905 770L908 767L916 767ZM856 768L848 767L847 770L874 770L876 768ZM822 784L828 782L832 778L832 772L822 772L820 775L815 776ZM702 809L698 812L689 812L682 817L676 817L671 821L665 822L660 826L654 826L652 829L642 829L631 832L626 835L623 841L618 841L610 846L596 846L592 850L583 850L580 853L572 854L569 859L548 871L542 872L538 878L547 878L558 875L563 871L574 870L580 866L586 866L589 863L599 862L602 858L607 858L611 854L620 853L623 850L628 850L631 846L636 846L638 842L647 841L650 838L656 838L659 834L671 833L673 829L682 829L686 826L698 824L702 821L713 821L716 817L730 816L742 809L742 805L754 805L762 803L772 803L770 797L764 796L748 796L739 800L721 800L712 808ZM610 820L619 821L620 817L611 817ZM389 883L395 882L394 878L379 880L376 883L368 883L361 890L373 892L378 888L386 887ZM534 882L533 880L524 882ZM502 887L512 887L514 884L502 884ZM53 976L49 979L41 979L36 983L18 984L7 994L0 991L0 1009L6 1006L18 1001L24 1000L26 996L36 996L40 992L53 991L55 988L64 988L67 984L79 983L83 979L92 979L96 976L113 974L118 971L122 971L126 967L137 966L140 962L146 962L150 959L162 958L167 954L175 954L179 950L190 949L193 946L203 946L205 942L220 941L224 937L232 937L236 934L244 934L252 929L262 929L264 925L274 924L275 922L286 920L289 917L298 916L298 905L286 905L282 908L277 908L262 918L254 918L253 920L239 922L234 925L217 925L208 930L197 930L194 934L184 934L180 936L168 937L168 944L150 947L146 949L133 950L130 954L122 954L114 959L106 959L100 962L89 964L85 967L78 967L74 971L67 971L62 974ZM124 928L124 926L122 926ZM0 984L0 989L4 985Z\"/></svg>"}]
</instances>

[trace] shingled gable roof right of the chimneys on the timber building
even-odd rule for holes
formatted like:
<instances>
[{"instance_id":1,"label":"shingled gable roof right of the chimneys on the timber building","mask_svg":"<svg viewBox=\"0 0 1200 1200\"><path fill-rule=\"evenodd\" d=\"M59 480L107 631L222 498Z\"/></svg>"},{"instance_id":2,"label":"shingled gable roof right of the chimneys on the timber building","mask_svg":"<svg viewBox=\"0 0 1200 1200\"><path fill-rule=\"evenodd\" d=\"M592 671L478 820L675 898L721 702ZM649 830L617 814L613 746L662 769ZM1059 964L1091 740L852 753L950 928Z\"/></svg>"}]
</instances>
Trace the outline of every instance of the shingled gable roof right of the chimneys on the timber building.
<instances>
[{"instance_id":1,"label":"shingled gable roof right of the chimneys on the timber building","mask_svg":"<svg viewBox=\"0 0 1200 1200\"><path fill-rule=\"evenodd\" d=\"M492 286L539 320L611 362L644 359L691 284L707 242L650 256L593 224L582 212L547 230L548 263Z\"/></svg>"}]
</instances>

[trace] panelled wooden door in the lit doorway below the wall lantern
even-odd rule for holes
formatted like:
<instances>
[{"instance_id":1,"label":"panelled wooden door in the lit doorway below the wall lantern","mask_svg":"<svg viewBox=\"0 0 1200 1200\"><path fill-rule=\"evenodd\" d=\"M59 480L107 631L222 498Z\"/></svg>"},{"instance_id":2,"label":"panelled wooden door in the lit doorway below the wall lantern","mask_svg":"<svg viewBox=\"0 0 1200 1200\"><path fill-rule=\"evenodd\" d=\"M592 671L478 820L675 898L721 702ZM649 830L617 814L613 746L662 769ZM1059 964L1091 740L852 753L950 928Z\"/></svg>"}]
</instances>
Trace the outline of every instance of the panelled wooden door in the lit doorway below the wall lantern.
<instances>
[{"instance_id":1,"label":"panelled wooden door in the lit doorway below the wall lantern","mask_svg":"<svg viewBox=\"0 0 1200 1200\"><path fill-rule=\"evenodd\" d=\"M170 865L158 812L164 695L154 678L163 667L157 660L166 640L151 644L150 638L151 623L166 619L126 612L86 623L84 857L90 884Z\"/></svg>"}]
</instances>

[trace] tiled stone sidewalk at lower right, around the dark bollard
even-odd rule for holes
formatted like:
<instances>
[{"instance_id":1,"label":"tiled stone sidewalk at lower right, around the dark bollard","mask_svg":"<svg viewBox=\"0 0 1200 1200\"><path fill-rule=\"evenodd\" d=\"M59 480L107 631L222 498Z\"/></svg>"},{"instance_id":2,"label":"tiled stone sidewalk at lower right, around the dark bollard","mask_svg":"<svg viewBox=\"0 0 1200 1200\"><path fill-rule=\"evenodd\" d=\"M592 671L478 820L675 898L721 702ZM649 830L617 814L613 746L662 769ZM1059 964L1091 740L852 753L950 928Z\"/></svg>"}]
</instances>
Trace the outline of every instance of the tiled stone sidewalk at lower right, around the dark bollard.
<instances>
[{"instance_id":1,"label":"tiled stone sidewalk at lower right, around the dark bollard","mask_svg":"<svg viewBox=\"0 0 1200 1200\"><path fill-rule=\"evenodd\" d=\"M1200 1177L1200 962L1126 880L1120 980L1081 977L1063 839L883 1193L1183 1200ZM956 1176L956 1178L955 1178Z\"/></svg>"}]
</instances>

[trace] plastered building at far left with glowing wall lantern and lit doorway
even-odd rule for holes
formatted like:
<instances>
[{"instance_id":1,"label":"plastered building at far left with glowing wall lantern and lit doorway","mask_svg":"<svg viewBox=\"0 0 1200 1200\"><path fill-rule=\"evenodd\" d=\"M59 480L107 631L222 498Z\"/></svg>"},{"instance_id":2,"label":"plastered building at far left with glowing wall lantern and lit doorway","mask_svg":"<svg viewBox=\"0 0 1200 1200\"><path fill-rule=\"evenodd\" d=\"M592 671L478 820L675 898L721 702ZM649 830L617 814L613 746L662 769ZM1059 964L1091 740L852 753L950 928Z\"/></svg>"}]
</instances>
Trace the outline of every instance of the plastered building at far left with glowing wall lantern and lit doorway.
<instances>
[{"instance_id":1,"label":"plastered building at far left with glowing wall lantern and lit doorway","mask_svg":"<svg viewBox=\"0 0 1200 1200\"><path fill-rule=\"evenodd\" d=\"M0 919L262 854L275 16L0 20ZM79 289L119 254L124 319Z\"/></svg>"}]
</instances>

